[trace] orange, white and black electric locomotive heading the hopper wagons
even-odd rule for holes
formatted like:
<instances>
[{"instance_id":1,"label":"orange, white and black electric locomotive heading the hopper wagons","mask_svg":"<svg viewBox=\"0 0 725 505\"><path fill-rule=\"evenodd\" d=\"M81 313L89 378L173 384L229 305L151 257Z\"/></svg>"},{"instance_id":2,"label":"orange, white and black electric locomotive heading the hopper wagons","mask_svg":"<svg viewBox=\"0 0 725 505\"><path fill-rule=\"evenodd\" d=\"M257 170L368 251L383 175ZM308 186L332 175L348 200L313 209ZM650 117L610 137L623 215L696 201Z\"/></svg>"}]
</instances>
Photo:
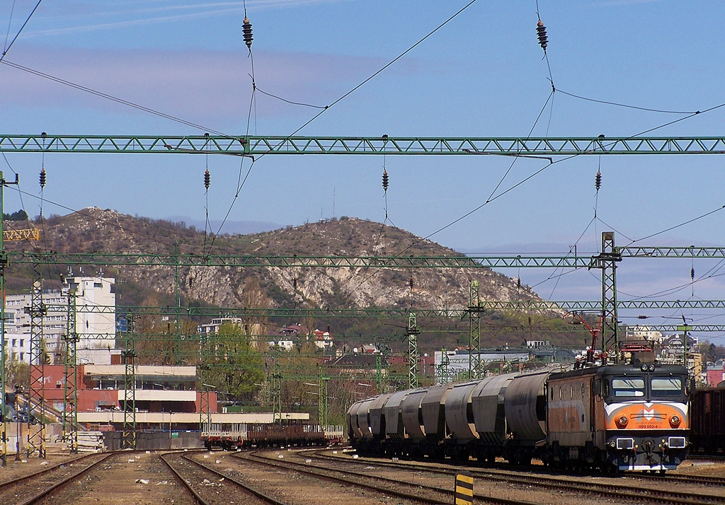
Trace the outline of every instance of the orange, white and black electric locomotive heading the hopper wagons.
<instances>
[{"instance_id":1,"label":"orange, white and black electric locomotive heading the hopper wagons","mask_svg":"<svg viewBox=\"0 0 725 505\"><path fill-rule=\"evenodd\" d=\"M547 464L665 472L687 456L689 382L682 366L553 373L546 394Z\"/></svg>"}]
</instances>

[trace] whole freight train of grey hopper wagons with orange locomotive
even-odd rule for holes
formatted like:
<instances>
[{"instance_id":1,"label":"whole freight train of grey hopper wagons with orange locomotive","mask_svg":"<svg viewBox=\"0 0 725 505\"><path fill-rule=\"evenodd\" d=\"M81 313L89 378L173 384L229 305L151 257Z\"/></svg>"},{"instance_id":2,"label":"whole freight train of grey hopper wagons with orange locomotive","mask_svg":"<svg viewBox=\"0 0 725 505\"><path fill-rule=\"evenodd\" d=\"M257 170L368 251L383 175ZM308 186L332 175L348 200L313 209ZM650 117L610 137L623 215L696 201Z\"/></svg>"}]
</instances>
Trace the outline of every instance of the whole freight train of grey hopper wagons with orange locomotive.
<instances>
[{"instance_id":1,"label":"whole freight train of grey hopper wagons with orange locomotive","mask_svg":"<svg viewBox=\"0 0 725 505\"><path fill-rule=\"evenodd\" d=\"M348 438L362 454L664 473L687 456L689 386L661 364L497 375L357 401Z\"/></svg>"}]
</instances>

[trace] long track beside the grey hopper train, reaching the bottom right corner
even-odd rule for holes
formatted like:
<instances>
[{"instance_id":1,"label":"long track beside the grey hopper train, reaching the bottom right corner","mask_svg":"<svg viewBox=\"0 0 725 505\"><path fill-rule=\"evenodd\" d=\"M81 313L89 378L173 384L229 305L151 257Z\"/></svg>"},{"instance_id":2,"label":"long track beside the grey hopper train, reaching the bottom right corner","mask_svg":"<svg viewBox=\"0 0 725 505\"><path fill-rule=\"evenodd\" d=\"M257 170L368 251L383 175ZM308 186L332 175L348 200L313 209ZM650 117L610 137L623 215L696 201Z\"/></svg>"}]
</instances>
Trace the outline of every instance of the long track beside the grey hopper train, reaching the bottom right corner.
<instances>
[{"instance_id":1,"label":"long track beside the grey hopper train, reaching the bottom right corner","mask_svg":"<svg viewBox=\"0 0 725 505\"><path fill-rule=\"evenodd\" d=\"M310 454L315 451L302 451L302 453ZM317 451L319 452L319 451ZM612 500L625 499L636 503L662 503L676 505L708 505L708 504L725 504L725 496L711 495L707 493L678 492L666 491L656 488L643 488L641 485L628 485L621 483L592 483L582 480L571 480L561 477L550 477L547 475L522 475L511 474L506 470L494 469L478 469L472 467L463 467L447 464L443 465L426 465L416 463L395 463L386 462L379 459L349 459L340 456L328 456L324 454L310 454L312 459L334 461L338 466L341 462L348 462L353 465L370 465L375 464L377 467L389 467L394 469L415 469L419 472L431 472L444 475L455 475L461 469L470 472L473 477L486 479L487 481L496 481L500 483L522 485L528 487L545 488L550 491L564 491L567 493L579 493L596 495L602 498ZM342 471L342 470L340 470ZM357 475L366 475L361 472L351 472ZM368 471L369 473L369 471ZM645 476L643 476L645 477ZM647 477L655 477L655 475L647 475ZM685 476L682 476L685 477ZM661 480L667 482L668 477L660 477ZM685 477L687 479L687 477ZM692 480L688 480L692 483Z\"/></svg>"}]
</instances>

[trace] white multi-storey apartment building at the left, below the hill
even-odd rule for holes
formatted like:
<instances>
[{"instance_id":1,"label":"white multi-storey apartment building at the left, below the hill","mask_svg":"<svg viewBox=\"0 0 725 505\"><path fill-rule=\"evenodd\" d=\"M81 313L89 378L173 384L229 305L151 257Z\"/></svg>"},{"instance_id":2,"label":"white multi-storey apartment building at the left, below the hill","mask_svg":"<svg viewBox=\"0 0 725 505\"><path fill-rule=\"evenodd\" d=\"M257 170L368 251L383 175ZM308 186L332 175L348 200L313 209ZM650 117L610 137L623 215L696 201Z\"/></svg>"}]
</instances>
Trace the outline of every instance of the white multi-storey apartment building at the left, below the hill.
<instances>
[{"instance_id":1,"label":"white multi-storey apartment building at the left, below the hill","mask_svg":"<svg viewBox=\"0 0 725 505\"><path fill-rule=\"evenodd\" d=\"M67 332L68 291L75 290L75 332L78 363L110 364L109 349L115 347L115 279L68 277L62 291L42 293L47 312L42 320L43 340L51 363L63 361L63 337ZM7 295L5 301L5 349L22 362L30 362L30 293Z\"/></svg>"}]
</instances>

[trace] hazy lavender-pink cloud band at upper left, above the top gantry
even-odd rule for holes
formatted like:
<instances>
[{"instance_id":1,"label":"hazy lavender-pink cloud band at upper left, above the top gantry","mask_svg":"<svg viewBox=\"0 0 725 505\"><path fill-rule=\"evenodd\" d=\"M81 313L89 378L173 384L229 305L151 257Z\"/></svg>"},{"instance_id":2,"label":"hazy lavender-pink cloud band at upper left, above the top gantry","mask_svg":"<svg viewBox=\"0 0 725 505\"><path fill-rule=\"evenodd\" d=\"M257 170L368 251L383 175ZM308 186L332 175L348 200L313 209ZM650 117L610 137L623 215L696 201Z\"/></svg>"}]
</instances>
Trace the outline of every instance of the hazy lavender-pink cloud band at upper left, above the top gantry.
<instances>
[{"instance_id":1,"label":"hazy lavender-pink cloud band at upper left, above the top gantry","mask_svg":"<svg viewBox=\"0 0 725 505\"><path fill-rule=\"evenodd\" d=\"M109 51L24 46L12 62L120 99L222 128L247 117L252 93L246 51ZM367 57L257 51L257 86L291 101L324 106L384 64ZM410 63L403 63L403 66ZM0 66L4 104L118 112L120 105L67 85ZM134 113L132 109L120 109ZM317 109L315 109L317 110ZM295 107L257 93L257 116L308 117ZM138 112L138 114L142 114Z\"/></svg>"}]
</instances>

